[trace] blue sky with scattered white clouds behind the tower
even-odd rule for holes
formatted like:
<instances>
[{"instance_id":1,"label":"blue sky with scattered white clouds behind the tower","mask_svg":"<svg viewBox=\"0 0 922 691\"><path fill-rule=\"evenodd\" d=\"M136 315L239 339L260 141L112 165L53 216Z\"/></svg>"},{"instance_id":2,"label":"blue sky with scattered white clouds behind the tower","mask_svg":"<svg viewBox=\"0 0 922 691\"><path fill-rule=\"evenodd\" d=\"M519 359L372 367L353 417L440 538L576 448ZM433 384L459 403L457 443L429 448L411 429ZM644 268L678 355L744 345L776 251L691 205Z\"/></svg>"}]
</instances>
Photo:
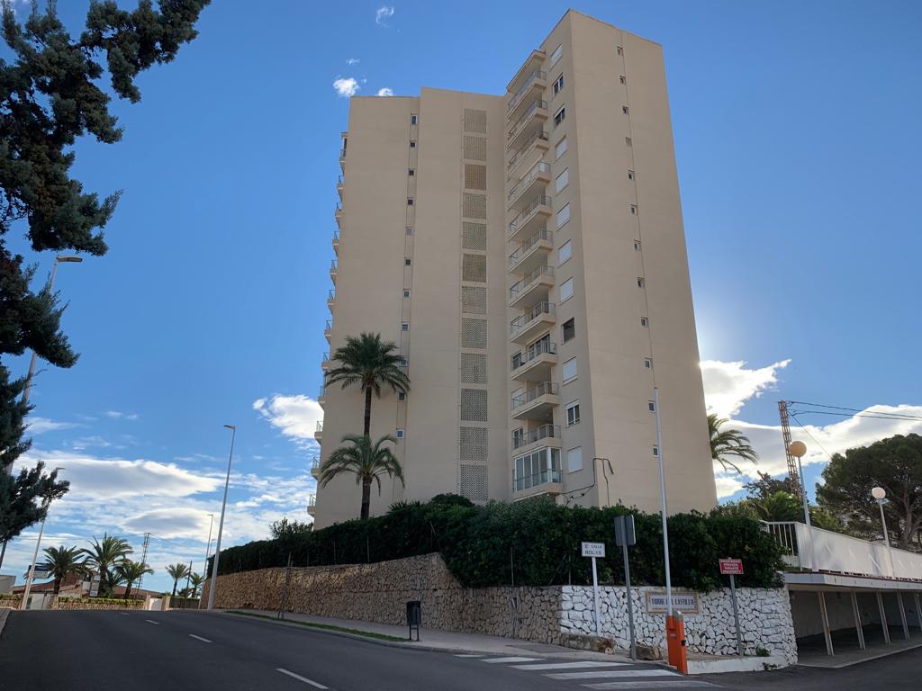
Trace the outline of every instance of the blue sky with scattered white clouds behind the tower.
<instances>
[{"instance_id":1,"label":"blue sky with scattered white clouds behind the tower","mask_svg":"<svg viewBox=\"0 0 922 691\"><path fill-rule=\"evenodd\" d=\"M68 0L60 13L76 31L87 6ZM349 90L354 79L361 95L502 93L566 8L220 0L206 9L199 38L141 76L142 102L113 105L124 141L77 146L77 178L124 196L109 254L58 275L81 358L42 371L32 393L26 460L62 465L74 482L52 509L46 544L109 531L139 549L135 536L149 531L160 539L147 585L169 587L171 561L193 558L199 570L206 514L220 506L224 423L239 427L225 545L264 536L282 515L307 518L319 416L310 399L321 383L349 107L334 82ZM761 467L783 468L779 398L922 414L913 202L922 6L576 8L664 45L708 402L751 435ZM44 274L52 257L38 261ZM28 362L10 365L24 372ZM802 421L828 452L920 430ZM807 441L815 479L826 455ZM739 482L721 477L721 494ZM34 534L11 545L5 572L22 572Z\"/></svg>"}]
</instances>

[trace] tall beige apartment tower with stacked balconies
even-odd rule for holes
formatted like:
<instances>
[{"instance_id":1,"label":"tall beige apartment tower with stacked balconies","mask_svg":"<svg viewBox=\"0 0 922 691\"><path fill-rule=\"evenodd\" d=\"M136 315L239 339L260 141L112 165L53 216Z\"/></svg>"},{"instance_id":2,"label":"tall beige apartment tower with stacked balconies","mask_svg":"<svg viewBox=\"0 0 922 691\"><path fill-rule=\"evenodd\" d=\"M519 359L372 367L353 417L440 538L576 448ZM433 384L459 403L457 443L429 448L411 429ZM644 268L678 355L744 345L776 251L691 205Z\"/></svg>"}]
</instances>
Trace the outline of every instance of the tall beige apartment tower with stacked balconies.
<instances>
[{"instance_id":1,"label":"tall beige apartment tower with stacked balconies","mask_svg":"<svg viewBox=\"0 0 922 691\"><path fill-rule=\"evenodd\" d=\"M353 98L342 137L325 336L395 341L412 387L372 404L406 475L372 515L444 492L658 510L655 387L670 511L715 505L658 44L571 10L504 96ZM363 399L320 401L323 461ZM359 509L349 477L310 507Z\"/></svg>"}]
</instances>

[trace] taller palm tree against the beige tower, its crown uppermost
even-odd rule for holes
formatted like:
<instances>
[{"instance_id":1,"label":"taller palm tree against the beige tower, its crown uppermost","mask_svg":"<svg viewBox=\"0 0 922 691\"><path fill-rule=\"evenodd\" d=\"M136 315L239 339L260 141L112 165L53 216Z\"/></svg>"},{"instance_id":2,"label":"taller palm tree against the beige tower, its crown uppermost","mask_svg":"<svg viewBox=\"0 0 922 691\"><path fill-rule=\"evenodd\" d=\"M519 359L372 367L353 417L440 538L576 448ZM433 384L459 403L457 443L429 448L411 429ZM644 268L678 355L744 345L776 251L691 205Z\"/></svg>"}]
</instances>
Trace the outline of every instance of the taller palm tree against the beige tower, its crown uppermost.
<instances>
[{"instance_id":1,"label":"taller palm tree against the beige tower, its crown uppermost","mask_svg":"<svg viewBox=\"0 0 922 691\"><path fill-rule=\"evenodd\" d=\"M342 384L346 389L359 384L365 394L366 437L372 434L372 392L381 398L382 385L394 392L409 391L407 372L400 369L403 358L396 350L396 344L383 342L381 334L361 334L358 338L347 336L346 345L338 347L331 358L338 367L326 373L326 385Z\"/></svg>"}]
</instances>

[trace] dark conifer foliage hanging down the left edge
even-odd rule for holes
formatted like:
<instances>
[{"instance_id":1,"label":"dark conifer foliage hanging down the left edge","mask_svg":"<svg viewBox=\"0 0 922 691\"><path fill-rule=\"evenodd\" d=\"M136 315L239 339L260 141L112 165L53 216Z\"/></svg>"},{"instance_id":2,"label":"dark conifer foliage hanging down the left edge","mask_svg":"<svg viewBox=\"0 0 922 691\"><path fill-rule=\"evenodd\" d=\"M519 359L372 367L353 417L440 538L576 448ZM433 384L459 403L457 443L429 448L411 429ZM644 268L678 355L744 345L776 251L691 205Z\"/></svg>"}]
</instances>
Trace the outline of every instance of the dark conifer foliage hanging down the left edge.
<instances>
[{"instance_id":1,"label":"dark conifer foliage hanging down the left edge","mask_svg":"<svg viewBox=\"0 0 922 691\"><path fill-rule=\"evenodd\" d=\"M132 102L141 94L135 77L153 64L169 63L195 39L195 21L209 0L141 0L135 10L115 2L90 2L86 29L75 39L49 1L33 2L19 23L3 0L3 39L10 55L0 59L0 534L14 537L41 520L36 498L61 496L66 483L32 471L6 477L10 464L30 446L23 439L30 406L20 403L25 386L2 362L33 350L56 367L77 355L60 330L64 310L47 288L30 288L35 268L10 252L6 234L23 228L34 252L102 255L102 228L112 218L119 192L100 197L70 176L77 137L104 144L122 137L109 112L112 92ZM31 502L31 504L30 504Z\"/></svg>"}]
</instances>

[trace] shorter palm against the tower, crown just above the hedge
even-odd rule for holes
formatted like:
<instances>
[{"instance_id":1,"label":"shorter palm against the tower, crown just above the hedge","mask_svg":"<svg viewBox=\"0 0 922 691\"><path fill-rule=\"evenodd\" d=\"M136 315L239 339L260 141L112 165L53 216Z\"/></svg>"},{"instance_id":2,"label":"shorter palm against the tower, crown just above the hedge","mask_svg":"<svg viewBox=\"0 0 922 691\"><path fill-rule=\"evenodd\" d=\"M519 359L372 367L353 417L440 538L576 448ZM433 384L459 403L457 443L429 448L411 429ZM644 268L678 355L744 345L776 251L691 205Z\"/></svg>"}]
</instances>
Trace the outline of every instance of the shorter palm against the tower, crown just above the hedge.
<instances>
[{"instance_id":1,"label":"shorter palm against the tower, crown just above the hedge","mask_svg":"<svg viewBox=\"0 0 922 691\"><path fill-rule=\"evenodd\" d=\"M400 462L394 453L384 446L387 442L396 444L396 439L385 435L372 445L372 439L367 435L360 437L357 434L347 434L343 441L350 446L339 447L320 466L319 484L323 487L337 475L354 474L356 485L361 483L361 518L367 519L372 501L372 481L378 484L379 495L383 474L396 477L401 485L404 484Z\"/></svg>"}]
</instances>

